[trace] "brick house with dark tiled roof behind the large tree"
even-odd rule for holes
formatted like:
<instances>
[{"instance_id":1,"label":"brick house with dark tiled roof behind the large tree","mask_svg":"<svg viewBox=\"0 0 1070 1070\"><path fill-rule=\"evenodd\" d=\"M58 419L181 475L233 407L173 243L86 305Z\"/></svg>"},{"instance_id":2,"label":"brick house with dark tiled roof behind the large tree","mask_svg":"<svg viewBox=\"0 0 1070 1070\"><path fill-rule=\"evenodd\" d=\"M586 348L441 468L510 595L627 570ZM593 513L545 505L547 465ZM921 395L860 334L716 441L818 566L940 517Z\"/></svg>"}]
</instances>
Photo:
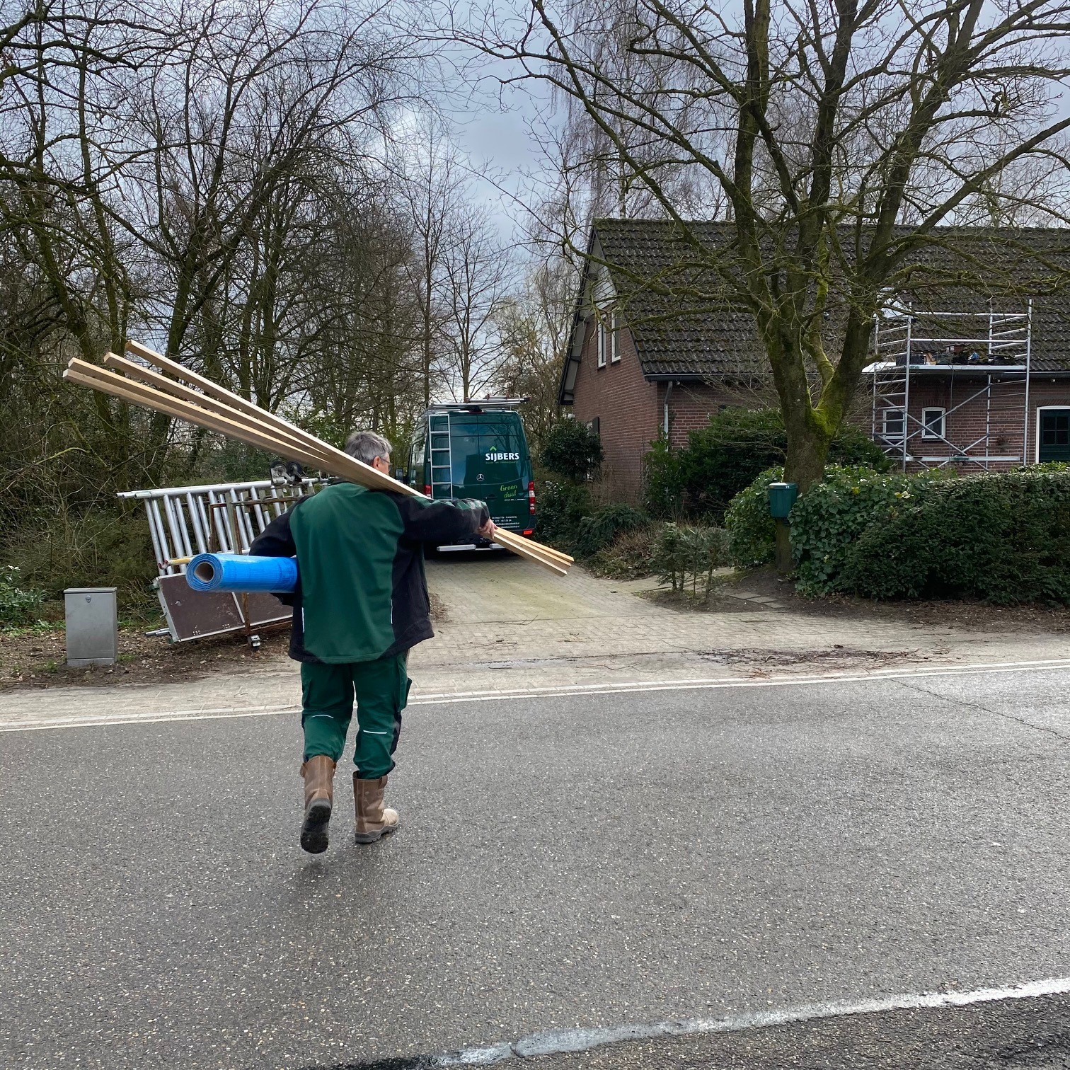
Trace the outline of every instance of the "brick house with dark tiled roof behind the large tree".
<instances>
[{"instance_id":1,"label":"brick house with dark tiled roof behind the large tree","mask_svg":"<svg viewBox=\"0 0 1070 1070\"><path fill-rule=\"evenodd\" d=\"M712 245L731 240L723 224L698 230ZM954 234L975 244L992 240L979 230ZM1061 257L1070 264L1070 231L1024 236L1045 249L1046 264ZM983 262L977 253L970 250L973 261ZM993 255L1006 260L1007 249ZM929 272L926 284L889 296L851 419L912 470L1070 460L1070 300L1051 294L1050 266L1044 277L1027 277L1039 269L1024 258L1011 271L1013 300L997 302L976 288L952 294L933 281L948 276L950 256L927 250L919 264L919 277ZM636 501L653 440L664 435L683 446L712 413L775 404L776 396L748 311L714 287L693 287L686 299L667 295L681 292L682 275L697 277L670 223L596 220L588 257L559 401L597 427L613 496Z\"/></svg>"}]
</instances>

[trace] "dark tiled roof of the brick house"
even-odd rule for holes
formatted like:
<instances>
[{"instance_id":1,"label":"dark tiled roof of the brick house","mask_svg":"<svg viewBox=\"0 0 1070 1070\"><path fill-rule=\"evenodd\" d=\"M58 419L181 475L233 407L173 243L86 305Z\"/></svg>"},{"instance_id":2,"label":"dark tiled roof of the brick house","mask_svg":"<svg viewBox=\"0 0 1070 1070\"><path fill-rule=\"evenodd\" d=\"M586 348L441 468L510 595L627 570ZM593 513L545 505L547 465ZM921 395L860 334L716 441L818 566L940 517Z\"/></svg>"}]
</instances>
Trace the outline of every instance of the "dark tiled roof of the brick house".
<instances>
[{"instance_id":1,"label":"dark tiled roof of the brick house","mask_svg":"<svg viewBox=\"0 0 1070 1070\"><path fill-rule=\"evenodd\" d=\"M700 242L728 248L734 228L689 225ZM752 377L768 371L754 320L730 286L701 263L671 221L598 219L601 246L646 376ZM938 244L908 262L915 308L1033 311L1036 371L1070 371L1070 229L939 228ZM991 270L990 270L991 269ZM1067 277L1059 277L1059 272ZM830 295L831 321L842 318Z\"/></svg>"}]
</instances>

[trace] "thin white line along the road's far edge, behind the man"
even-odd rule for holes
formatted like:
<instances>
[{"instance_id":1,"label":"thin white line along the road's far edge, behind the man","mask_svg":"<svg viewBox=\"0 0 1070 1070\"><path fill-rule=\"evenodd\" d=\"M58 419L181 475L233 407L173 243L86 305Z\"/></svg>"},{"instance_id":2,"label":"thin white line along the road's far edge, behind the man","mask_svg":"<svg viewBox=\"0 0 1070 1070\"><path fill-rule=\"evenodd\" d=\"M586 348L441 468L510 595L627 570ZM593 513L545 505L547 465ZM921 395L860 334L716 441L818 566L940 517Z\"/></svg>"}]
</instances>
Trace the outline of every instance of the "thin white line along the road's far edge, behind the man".
<instances>
[{"instance_id":1,"label":"thin white line along the road's far edge, behind the man","mask_svg":"<svg viewBox=\"0 0 1070 1070\"><path fill-rule=\"evenodd\" d=\"M698 679L632 681L623 684L566 684L560 687L515 688L498 691L450 691L441 694L417 694L410 706L438 706L463 702L499 702L505 699L553 699L586 694L630 694L654 691L701 691L720 688L805 687L827 683L866 683L874 679L927 679L937 676L995 675L1021 672L1023 669L1066 670L1070 658L1046 661L996 661L976 666L942 666L931 669L874 669L865 673L824 673L814 676L776 676L744 679L719 676ZM35 718L0 723L0 732L36 732L46 729L94 728L107 724L153 724L159 721L217 720L225 717L270 717L295 714L299 706L236 706L216 709L147 710L143 714L101 714L54 718Z\"/></svg>"}]
</instances>

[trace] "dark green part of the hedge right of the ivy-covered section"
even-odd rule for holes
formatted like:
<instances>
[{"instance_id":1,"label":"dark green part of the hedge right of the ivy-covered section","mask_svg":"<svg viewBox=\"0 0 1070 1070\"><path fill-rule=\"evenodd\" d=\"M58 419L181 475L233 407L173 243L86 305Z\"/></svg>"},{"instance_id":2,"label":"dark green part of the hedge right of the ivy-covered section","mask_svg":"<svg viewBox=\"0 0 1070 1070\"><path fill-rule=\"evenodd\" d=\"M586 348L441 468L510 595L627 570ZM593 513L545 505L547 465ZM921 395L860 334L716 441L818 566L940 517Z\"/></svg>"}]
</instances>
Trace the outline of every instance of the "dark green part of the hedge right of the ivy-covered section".
<instances>
[{"instance_id":1,"label":"dark green part of the hedge right of the ivy-covered section","mask_svg":"<svg viewBox=\"0 0 1070 1070\"><path fill-rule=\"evenodd\" d=\"M871 598L1070 605L1070 471L913 477L829 582Z\"/></svg>"}]
</instances>

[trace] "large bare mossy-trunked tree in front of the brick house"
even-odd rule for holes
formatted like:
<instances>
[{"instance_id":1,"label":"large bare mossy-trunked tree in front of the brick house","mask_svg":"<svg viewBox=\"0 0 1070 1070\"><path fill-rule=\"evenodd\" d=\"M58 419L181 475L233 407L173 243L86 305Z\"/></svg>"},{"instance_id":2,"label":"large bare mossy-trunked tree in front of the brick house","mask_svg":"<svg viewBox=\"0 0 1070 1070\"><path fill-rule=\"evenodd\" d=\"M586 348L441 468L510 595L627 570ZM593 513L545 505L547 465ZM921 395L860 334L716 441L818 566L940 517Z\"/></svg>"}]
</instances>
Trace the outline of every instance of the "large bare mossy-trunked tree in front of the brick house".
<instances>
[{"instance_id":1,"label":"large bare mossy-trunked tree in front of the brick house","mask_svg":"<svg viewBox=\"0 0 1070 1070\"><path fill-rule=\"evenodd\" d=\"M786 476L804 492L857 389L874 315L889 290L918 285L942 225L994 205L1064 218L1064 0L637 0L626 21L568 0L441 10L453 37L577 102L672 221L677 269L638 285L751 311ZM1020 168L1039 168L1039 185L1005 180ZM690 221L682 169L719 189L728 240Z\"/></svg>"}]
</instances>

